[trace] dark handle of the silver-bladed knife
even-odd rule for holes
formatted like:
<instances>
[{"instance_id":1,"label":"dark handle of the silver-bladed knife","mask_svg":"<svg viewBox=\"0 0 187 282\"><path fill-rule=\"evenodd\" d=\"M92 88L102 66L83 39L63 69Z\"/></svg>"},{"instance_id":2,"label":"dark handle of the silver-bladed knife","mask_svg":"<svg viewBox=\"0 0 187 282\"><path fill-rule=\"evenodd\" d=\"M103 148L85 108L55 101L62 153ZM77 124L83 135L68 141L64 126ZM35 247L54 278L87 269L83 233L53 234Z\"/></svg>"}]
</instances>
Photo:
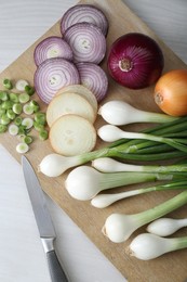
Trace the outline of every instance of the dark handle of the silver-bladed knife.
<instances>
[{"instance_id":1,"label":"dark handle of the silver-bladed knife","mask_svg":"<svg viewBox=\"0 0 187 282\"><path fill-rule=\"evenodd\" d=\"M59 260L54 249L46 253L46 260L48 260L52 282L69 281L59 264Z\"/></svg>"}]
</instances>

